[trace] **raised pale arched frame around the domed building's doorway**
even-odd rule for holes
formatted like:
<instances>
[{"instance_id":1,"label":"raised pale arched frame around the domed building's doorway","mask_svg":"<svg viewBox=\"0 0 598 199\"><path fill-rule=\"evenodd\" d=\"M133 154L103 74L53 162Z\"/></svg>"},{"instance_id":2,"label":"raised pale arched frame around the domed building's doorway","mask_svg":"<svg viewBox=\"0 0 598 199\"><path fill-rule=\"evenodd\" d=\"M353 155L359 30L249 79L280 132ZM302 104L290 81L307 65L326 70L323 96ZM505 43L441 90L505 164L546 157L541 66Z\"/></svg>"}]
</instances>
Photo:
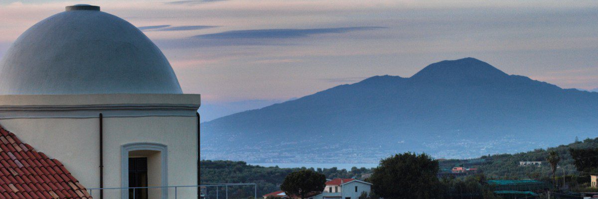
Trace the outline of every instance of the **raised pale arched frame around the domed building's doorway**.
<instances>
[{"instance_id":1,"label":"raised pale arched frame around the domed building's doorway","mask_svg":"<svg viewBox=\"0 0 598 199\"><path fill-rule=\"evenodd\" d=\"M161 163L161 186L168 186L168 148L161 143L153 142L134 142L127 143L121 146L120 163L121 163L121 187L129 187L129 152L130 151L159 151ZM129 198L129 189L121 189L121 198ZM168 198L168 189L162 189L162 198Z\"/></svg>"}]
</instances>

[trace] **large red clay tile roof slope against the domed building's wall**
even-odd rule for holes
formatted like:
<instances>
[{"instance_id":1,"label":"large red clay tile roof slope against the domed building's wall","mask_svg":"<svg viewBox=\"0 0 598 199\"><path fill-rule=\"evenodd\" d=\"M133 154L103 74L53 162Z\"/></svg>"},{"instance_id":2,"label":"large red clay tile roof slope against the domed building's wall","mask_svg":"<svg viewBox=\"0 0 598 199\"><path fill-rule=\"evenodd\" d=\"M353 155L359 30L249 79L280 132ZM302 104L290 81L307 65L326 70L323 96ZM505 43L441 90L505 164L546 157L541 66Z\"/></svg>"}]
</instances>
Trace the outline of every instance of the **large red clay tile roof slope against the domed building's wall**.
<instances>
[{"instance_id":1,"label":"large red clay tile roof slope against the domed building's wall","mask_svg":"<svg viewBox=\"0 0 598 199\"><path fill-rule=\"evenodd\" d=\"M0 126L0 199L91 198L60 161Z\"/></svg>"}]
</instances>

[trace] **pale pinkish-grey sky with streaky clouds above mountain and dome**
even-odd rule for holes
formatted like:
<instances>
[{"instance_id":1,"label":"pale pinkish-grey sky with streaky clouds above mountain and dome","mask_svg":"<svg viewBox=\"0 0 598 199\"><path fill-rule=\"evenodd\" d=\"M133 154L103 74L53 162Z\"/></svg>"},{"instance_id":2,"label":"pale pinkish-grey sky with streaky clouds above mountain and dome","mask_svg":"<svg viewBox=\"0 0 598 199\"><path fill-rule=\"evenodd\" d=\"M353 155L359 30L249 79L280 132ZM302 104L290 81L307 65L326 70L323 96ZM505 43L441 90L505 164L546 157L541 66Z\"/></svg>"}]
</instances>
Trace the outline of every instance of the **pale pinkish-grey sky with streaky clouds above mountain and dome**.
<instances>
[{"instance_id":1,"label":"pale pinkish-grey sky with streaky clouds above mountain and dome","mask_svg":"<svg viewBox=\"0 0 598 199\"><path fill-rule=\"evenodd\" d=\"M563 88L598 87L594 0L0 0L0 56L72 4L140 27L204 104L285 100L462 57Z\"/></svg>"}]
</instances>

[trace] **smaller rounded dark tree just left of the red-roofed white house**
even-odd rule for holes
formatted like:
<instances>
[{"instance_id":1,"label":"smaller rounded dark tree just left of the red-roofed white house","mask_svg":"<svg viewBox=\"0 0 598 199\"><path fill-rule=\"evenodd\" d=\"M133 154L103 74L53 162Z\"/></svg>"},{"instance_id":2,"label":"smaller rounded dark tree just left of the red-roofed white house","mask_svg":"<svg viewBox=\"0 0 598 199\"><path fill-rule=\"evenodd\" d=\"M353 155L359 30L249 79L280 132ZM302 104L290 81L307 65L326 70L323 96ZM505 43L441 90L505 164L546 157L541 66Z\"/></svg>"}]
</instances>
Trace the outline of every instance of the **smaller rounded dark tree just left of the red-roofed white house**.
<instances>
[{"instance_id":1,"label":"smaller rounded dark tree just left of the red-roofed white house","mask_svg":"<svg viewBox=\"0 0 598 199\"><path fill-rule=\"evenodd\" d=\"M322 192L326 186L326 176L312 170L289 173L280 185L286 195L299 195L306 198L311 192Z\"/></svg>"}]
</instances>

